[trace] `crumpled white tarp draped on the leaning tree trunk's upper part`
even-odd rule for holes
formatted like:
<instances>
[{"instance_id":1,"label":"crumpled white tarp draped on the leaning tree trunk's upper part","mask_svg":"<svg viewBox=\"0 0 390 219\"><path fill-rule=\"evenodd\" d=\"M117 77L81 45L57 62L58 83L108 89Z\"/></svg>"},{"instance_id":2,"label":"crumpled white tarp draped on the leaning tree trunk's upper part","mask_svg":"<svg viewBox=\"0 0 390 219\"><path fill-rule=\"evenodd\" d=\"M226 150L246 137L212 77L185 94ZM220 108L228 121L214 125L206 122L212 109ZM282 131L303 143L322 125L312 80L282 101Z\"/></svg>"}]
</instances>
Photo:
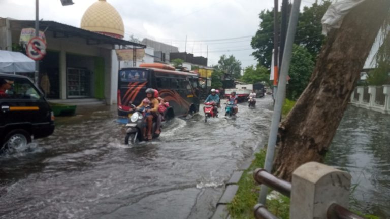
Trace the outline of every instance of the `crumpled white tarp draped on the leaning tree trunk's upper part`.
<instances>
[{"instance_id":1,"label":"crumpled white tarp draped on the leaning tree trunk's upper part","mask_svg":"<svg viewBox=\"0 0 390 219\"><path fill-rule=\"evenodd\" d=\"M329 6L321 19L322 34L327 35L331 29L340 28L345 15L365 0L340 0Z\"/></svg>"}]
</instances>

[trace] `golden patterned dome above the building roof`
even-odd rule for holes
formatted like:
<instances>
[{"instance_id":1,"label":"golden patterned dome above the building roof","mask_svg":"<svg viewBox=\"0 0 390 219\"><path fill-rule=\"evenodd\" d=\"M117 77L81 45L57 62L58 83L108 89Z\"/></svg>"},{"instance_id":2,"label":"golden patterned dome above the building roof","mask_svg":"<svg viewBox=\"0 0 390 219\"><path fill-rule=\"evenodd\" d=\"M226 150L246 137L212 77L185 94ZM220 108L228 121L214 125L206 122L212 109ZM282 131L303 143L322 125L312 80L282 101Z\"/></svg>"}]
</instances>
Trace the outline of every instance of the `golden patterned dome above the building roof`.
<instances>
[{"instance_id":1,"label":"golden patterned dome above the building roof","mask_svg":"<svg viewBox=\"0 0 390 219\"><path fill-rule=\"evenodd\" d=\"M124 25L122 17L106 0L93 3L81 19L81 28L123 38Z\"/></svg>"}]
</instances>

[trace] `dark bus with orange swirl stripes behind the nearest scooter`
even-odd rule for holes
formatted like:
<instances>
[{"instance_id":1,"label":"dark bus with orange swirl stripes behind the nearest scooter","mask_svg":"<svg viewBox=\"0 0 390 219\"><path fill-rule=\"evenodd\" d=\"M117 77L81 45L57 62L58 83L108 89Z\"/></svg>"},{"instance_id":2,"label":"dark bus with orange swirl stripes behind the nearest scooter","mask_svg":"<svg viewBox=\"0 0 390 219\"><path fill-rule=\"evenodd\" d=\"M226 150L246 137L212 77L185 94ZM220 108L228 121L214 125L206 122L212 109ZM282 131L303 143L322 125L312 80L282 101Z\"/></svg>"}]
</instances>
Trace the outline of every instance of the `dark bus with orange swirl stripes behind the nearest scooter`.
<instances>
[{"instance_id":1,"label":"dark bus with orange swirl stripes behind the nearest scooter","mask_svg":"<svg viewBox=\"0 0 390 219\"><path fill-rule=\"evenodd\" d=\"M158 90L159 96L169 102L168 118L199 112L201 89L198 74L151 63L119 70L118 116L127 117L129 104L139 105L146 97L147 88Z\"/></svg>"}]
</instances>

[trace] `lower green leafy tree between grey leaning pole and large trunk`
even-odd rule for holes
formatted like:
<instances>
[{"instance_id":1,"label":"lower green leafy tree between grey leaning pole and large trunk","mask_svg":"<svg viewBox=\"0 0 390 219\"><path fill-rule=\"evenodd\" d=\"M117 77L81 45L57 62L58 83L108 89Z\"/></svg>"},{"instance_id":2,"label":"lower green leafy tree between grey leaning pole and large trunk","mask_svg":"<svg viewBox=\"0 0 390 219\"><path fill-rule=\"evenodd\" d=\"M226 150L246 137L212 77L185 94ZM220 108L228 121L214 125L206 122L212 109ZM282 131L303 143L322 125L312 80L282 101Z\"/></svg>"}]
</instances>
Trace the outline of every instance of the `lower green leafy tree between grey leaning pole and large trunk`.
<instances>
[{"instance_id":1,"label":"lower green leafy tree between grey leaning pole and large trunk","mask_svg":"<svg viewBox=\"0 0 390 219\"><path fill-rule=\"evenodd\" d=\"M288 71L290 80L287 85L286 97L291 100L298 99L309 83L310 76L314 70L314 62L309 51L294 44L293 56Z\"/></svg>"}]
</instances>

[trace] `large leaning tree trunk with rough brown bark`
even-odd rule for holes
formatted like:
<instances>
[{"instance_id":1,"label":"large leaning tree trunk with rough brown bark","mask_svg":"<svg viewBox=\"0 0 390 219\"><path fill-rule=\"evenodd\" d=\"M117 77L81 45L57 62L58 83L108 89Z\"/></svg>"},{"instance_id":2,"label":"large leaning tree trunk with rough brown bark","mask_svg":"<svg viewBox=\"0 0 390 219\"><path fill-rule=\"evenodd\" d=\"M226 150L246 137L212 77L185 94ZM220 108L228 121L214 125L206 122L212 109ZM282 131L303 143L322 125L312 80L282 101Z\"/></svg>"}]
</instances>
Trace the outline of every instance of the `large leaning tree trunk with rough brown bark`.
<instances>
[{"instance_id":1,"label":"large leaning tree trunk with rough brown bark","mask_svg":"<svg viewBox=\"0 0 390 219\"><path fill-rule=\"evenodd\" d=\"M279 126L279 177L291 180L300 165L323 161L389 8L389 0L366 0L329 33L309 85Z\"/></svg>"}]
</instances>

